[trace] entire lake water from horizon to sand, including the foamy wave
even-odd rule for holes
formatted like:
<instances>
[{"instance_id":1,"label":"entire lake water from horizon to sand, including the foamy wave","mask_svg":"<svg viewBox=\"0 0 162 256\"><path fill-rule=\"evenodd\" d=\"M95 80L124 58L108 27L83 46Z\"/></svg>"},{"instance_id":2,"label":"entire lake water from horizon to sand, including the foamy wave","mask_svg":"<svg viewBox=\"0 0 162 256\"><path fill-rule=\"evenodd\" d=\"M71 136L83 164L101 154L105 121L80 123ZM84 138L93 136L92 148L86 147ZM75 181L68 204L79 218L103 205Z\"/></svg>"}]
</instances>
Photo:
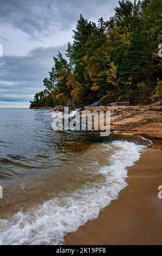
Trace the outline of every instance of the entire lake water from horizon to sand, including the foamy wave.
<instances>
[{"instance_id":1,"label":"entire lake water from horizon to sand, including the foamy wave","mask_svg":"<svg viewBox=\"0 0 162 256\"><path fill-rule=\"evenodd\" d=\"M126 168L148 141L54 132L51 112L0 109L0 241L60 244L127 186ZM142 145L139 145L142 144Z\"/></svg>"}]
</instances>

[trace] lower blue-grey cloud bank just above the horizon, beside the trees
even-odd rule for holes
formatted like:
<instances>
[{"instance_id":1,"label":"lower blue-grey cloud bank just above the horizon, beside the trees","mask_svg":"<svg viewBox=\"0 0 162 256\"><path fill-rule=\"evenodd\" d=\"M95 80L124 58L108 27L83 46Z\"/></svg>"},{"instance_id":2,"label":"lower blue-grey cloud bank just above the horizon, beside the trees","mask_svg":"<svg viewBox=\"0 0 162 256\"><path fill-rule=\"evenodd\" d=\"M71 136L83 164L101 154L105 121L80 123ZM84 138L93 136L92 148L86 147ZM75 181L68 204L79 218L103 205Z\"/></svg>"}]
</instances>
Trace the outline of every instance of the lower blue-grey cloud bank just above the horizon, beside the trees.
<instances>
[{"instance_id":1,"label":"lower blue-grey cloud bank just above the horizon, beside the trees","mask_svg":"<svg viewBox=\"0 0 162 256\"><path fill-rule=\"evenodd\" d=\"M39 47L26 56L0 58L0 101L29 102L43 87L43 79L53 65L53 56L58 50L65 52L66 45Z\"/></svg>"}]
</instances>

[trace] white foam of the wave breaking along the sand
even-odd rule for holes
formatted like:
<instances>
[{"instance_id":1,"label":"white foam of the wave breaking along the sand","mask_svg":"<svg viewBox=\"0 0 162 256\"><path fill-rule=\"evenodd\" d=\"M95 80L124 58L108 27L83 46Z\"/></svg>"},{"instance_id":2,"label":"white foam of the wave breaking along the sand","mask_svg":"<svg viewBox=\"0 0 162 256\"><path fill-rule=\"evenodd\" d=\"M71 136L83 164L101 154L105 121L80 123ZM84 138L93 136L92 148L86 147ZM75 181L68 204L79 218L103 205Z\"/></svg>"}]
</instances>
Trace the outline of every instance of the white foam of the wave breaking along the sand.
<instances>
[{"instance_id":1,"label":"white foam of the wave breaking along the sand","mask_svg":"<svg viewBox=\"0 0 162 256\"><path fill-rule=\"evenodd\" d=\"M68 196L54 198L30 212L18 212L10 220L0 220L2 245L58 245L64 236L76 231L88 220L97 218L99 212L117 199L127 186L127 167L140 157L144 147L131 142L117 141L110 166L98 168L103 181L84 185ZM107 150L109 150L109 146ZM104 148L105 148L104 147ZM98 156L99 157L99 156Z\"/></svg>"}]
</instances>

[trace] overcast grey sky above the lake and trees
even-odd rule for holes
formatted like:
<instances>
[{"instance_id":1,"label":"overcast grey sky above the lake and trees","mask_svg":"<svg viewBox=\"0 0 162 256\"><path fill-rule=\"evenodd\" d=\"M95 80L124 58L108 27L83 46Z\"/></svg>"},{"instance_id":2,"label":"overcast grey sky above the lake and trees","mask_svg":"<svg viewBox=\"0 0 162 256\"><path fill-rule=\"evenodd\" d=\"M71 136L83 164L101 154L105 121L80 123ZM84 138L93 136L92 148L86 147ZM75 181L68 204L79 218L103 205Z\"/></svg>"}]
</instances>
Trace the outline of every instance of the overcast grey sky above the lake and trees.
<instances>
[{"instance_id":1,"label":"overcast grey sky above the lake and trees","mask_svg":"<svg viewBox=\"0 0 162 256\"><path fill-rule=\"evenodd\" d=\"M53 56L65 52L80 13L97 22L118 0L0 0L0 107L29 107Z\"/></svg>"}]
</instances>

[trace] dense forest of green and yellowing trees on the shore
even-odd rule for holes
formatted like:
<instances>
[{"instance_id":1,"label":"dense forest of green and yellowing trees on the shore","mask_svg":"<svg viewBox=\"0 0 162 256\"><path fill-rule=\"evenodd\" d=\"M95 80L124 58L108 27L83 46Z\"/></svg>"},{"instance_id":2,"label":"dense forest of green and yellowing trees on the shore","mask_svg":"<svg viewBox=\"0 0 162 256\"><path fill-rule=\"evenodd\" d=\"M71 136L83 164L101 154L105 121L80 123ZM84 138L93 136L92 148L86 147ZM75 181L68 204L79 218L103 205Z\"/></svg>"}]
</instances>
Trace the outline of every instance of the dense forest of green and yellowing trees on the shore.
<instances>
[{"instance_id":1,"label":"dense forest of green and yellowing trees on the shore","mask_svg":"<svg viewBox=\"0 0 162 256\"><path fill-rule=\"evenodd\" d=\"M66 53L53 66L30 107L146 105L162 97L162 1L119 1L114 16L98 23L81 14Z\"/></svg>"}]
</instances>

